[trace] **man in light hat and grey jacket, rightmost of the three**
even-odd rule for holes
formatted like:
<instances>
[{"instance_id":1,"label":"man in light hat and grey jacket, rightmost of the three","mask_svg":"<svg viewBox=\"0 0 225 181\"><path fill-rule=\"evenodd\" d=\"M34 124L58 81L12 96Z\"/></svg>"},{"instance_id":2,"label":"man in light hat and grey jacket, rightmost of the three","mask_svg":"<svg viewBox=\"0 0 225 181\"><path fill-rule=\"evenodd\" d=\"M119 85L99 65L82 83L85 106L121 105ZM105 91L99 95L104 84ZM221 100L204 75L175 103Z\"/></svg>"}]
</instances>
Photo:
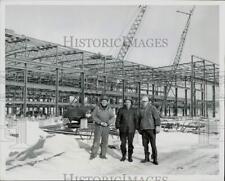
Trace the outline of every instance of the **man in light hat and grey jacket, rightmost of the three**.
<instances>
[{"instance_id":1,"label":"man in light hat and grey jacket, rightmost of the three","mask_svg":"<svg viewBox=\"0 0 225 181\"><path fill-rule=\"evenodd\" d=\"M142 135L142 143L144 146L145 159L142 163L149 162L149 148L151 143L153 164L158 165L156 134L160 132L160 117L155 106L149 103L147 96L141 99L141 108L138 114L138 131Z\"/></svg>"}]
</instances>

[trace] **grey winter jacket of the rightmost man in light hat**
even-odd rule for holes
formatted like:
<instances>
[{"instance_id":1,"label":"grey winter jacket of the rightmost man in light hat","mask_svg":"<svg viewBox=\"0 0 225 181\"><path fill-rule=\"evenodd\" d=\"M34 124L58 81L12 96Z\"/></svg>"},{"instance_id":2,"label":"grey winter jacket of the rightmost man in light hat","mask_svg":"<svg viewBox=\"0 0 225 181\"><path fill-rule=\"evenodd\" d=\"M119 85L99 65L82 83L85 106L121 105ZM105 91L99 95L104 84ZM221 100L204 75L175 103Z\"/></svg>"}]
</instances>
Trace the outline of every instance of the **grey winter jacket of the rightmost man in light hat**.
<instances>
[{"instance_id":1,"label":"grey winter jacket of the rightmost man in light hat","mask_svg":"<svg viewBox=\"0 0 225 181\"><path fill-rule=\"evenodd\" d=\"M155 106L150 103L138 111L138 130L155 129L160 126L159 113Z\"/></svg>"}]
</instances>

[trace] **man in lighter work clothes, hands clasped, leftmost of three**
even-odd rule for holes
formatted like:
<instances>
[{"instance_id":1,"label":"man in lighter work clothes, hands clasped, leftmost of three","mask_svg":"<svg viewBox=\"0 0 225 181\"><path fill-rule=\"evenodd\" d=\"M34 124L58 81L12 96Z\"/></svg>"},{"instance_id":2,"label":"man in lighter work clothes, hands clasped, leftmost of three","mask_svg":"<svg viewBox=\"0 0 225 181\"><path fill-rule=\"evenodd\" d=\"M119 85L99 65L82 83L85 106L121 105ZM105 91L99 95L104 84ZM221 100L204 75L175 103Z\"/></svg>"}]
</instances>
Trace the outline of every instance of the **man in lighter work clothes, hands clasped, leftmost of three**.
<instances>
[{"instance_id":1,"label":"man in lighter work clothes, hands clasped, leftmost of three","mask_svg":"<svg viewBox=\"0 0 225 181\"><path fill-rule=\"evenodd\" d=\"M100 104L97 105L92 112L92 118L95 122L94 141L91 148L90 159L97 156L99 146L101 145L100 158L106 159L106 151L108 146L109 126L114 122L113 110L108 105L108 97L101 96ZM101 141L101 144L100 144Z\"/></svg>"}]
</instances>

